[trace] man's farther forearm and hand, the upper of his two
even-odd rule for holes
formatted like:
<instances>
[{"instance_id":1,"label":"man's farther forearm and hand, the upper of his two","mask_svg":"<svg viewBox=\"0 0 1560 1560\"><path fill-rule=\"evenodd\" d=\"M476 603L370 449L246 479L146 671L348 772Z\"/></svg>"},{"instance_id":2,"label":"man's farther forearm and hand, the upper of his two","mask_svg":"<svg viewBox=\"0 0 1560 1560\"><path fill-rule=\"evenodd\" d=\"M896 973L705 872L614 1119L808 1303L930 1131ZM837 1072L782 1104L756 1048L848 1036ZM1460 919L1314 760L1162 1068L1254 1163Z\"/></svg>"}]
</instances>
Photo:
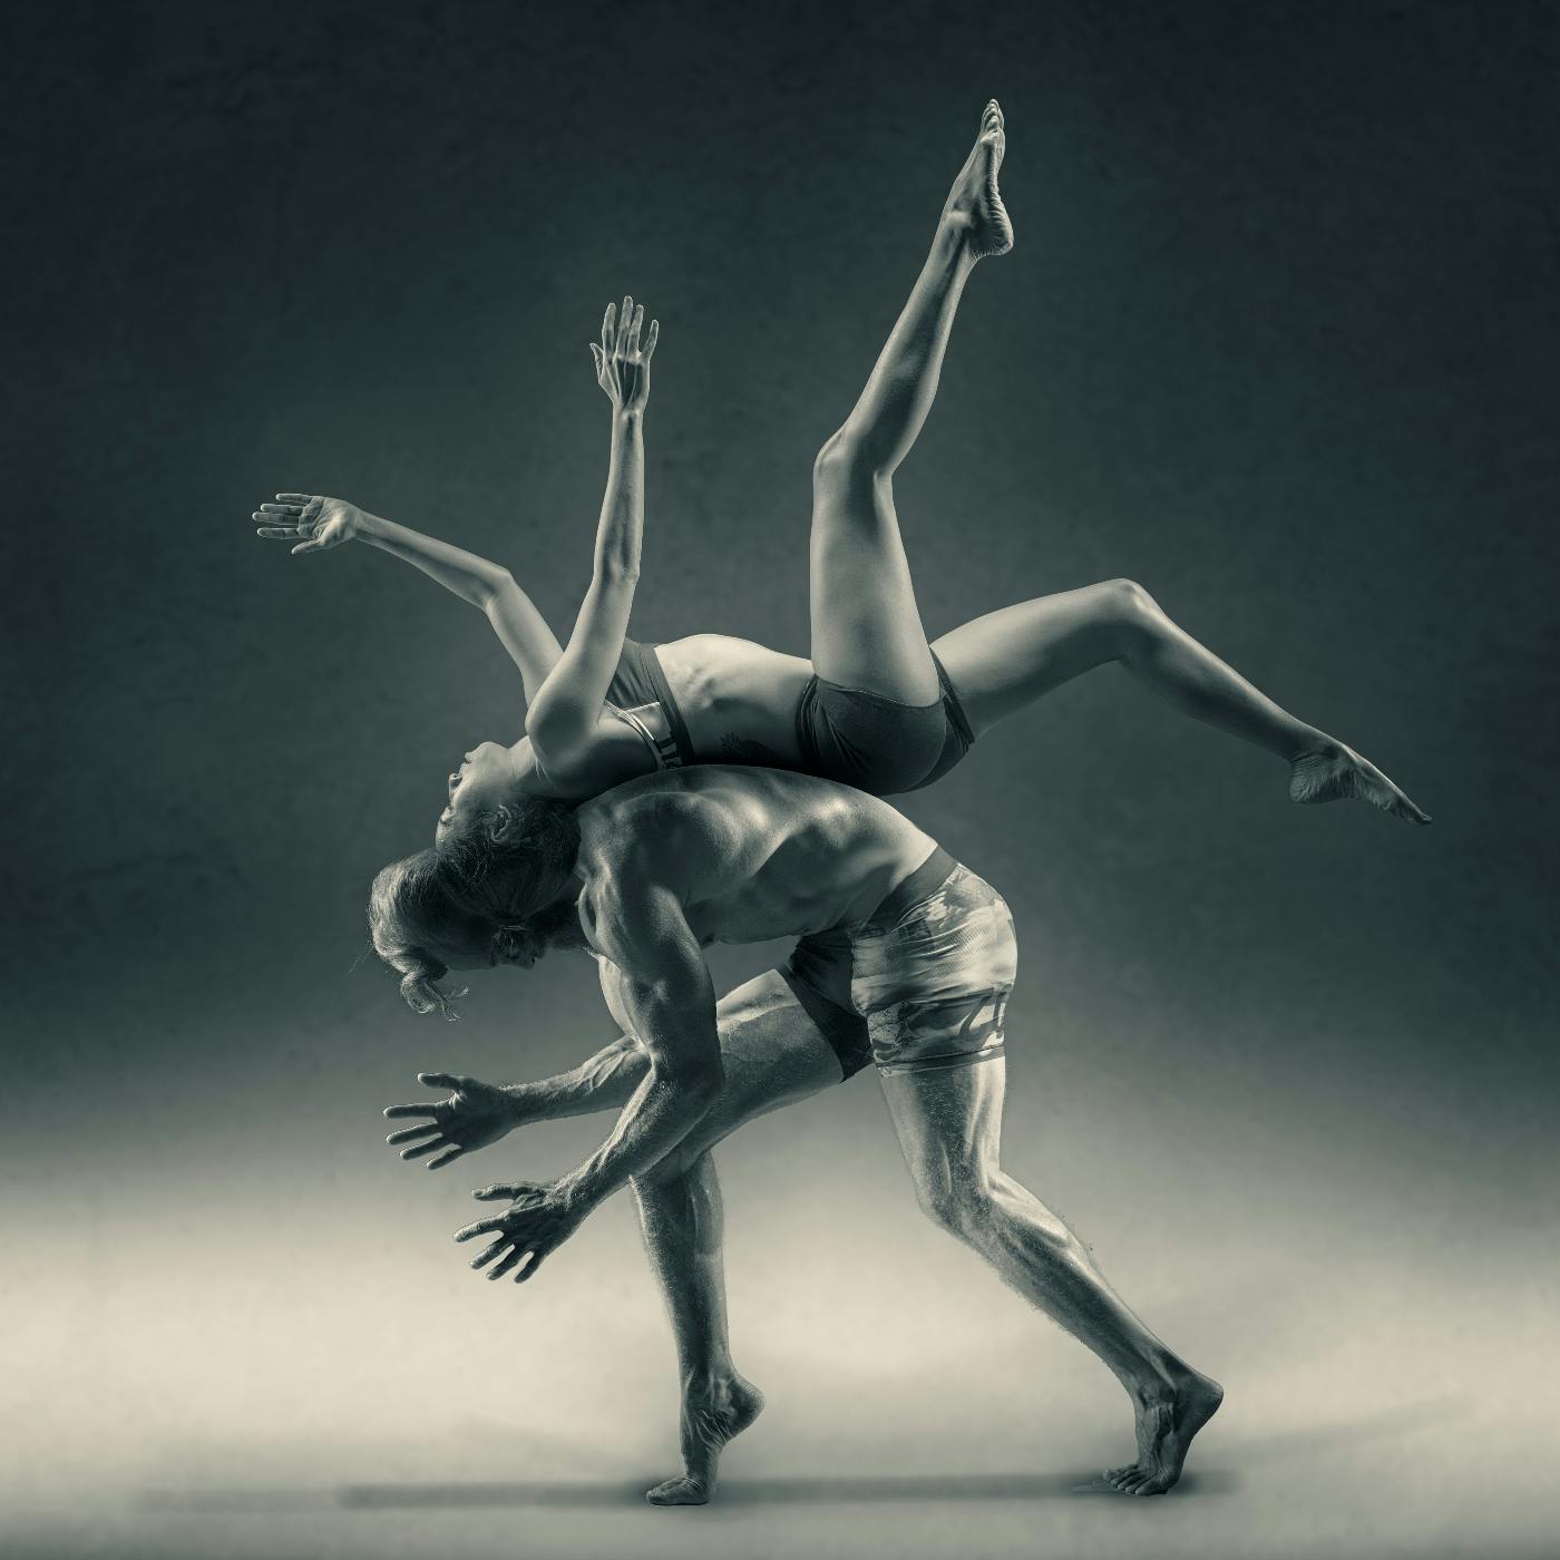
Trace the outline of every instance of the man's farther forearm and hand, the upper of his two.
<instances>
[{"instance_id":1,"label":"man's farther forearm and hand, the upper of his two","mask_svg":"<svg viewBox=\"0 0 1560 1560\"><path fill-rule=\"evenodd\" d=\"M499 1087L465 1073L418 1073L418 1083L451 1089L452 1094L448 1100L388 1106L385 1115L392 1120L427 1120L402 1126L385 1142L410 1145L401 1148L402 1159L427 1159L427 1168L438 1170L462 1154L496 1143L516 1126L622 1109L649 1070L649 1053L638 1041L622 1034L571 1072L538 1083Z\"/></svg>"}]
</instances>

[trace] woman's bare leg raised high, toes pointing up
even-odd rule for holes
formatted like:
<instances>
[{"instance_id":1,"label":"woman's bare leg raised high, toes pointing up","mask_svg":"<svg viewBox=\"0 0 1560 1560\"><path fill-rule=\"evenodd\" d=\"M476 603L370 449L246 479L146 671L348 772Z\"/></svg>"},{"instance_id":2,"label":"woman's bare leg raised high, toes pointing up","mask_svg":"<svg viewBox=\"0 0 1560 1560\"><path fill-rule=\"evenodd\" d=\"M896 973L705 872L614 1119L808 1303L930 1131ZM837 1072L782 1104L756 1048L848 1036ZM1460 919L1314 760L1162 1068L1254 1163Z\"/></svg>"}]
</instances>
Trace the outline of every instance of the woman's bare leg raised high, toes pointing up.
<instances>
[{"instance_id":1,"label":"woman's bare leg raised high, toes pointing up","mask_svg":"<svg viewBox=\"0 0 1560 1560\"><path fill-rule=\"evenodd\" d=\"M975 262L1012 248L997 193L1005 144L1002 109L987 103L909 301L861 399L813 465L813 666L825 682L902 704L934 702L938 672L899 535L894 470L938 393L953 314Z\"/></svg>"}]
</instances>

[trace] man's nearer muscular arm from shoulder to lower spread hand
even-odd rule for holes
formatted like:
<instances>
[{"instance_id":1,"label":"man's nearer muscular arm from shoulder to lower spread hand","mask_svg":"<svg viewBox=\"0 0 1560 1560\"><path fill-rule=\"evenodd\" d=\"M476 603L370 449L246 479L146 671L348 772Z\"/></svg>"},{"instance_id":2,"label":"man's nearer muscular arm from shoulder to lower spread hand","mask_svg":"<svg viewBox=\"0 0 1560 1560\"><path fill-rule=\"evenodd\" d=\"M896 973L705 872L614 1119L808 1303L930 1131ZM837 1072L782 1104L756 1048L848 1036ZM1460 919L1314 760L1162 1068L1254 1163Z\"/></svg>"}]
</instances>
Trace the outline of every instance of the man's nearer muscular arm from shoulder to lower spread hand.
<instances>
[{"instance_id":1,"label":"man's nearer muscular arm from shoulder to lower spread hand","mask_svg":"<svg viewBox=\"0 0 1560 1560\"><path fill-rule=\"evenodd\" d=\"M552 1186L490 1189L513 1197L513 1206L456 1234L457 1240L496 1237L471 1264L493 1264L488 1278L502 1278L527 1253L530 1262L515 1278L530 1278L602 1201L693 1131L725 1081L714 983L677 895L640 863L626 863L591 897L593 941L616 969L622 1017L649 1053L651 1070L612 1136L569 1175Z\"/></svg>"}]
</instances>

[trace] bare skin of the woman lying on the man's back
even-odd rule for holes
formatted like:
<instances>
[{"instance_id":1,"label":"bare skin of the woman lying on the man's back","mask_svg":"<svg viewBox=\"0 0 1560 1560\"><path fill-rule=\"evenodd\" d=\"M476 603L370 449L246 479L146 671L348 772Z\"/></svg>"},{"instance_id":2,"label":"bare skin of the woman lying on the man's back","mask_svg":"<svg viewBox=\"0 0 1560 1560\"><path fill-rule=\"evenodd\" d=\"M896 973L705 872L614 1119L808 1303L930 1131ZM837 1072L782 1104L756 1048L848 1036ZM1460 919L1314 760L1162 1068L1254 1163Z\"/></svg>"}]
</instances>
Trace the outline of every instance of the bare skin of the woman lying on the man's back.
<instances>
[{"instance_id":1,"label":"bare skin of the woman lying on the man's back","mask_svg":"<svg viewBox=\"0 0 1560 1560\"><path fill-rule=\"evenodd\" d=\"M660 646L668 683L699 761L800 768L796 707L816 672L909 705L938 697L936 669L916 602L894 507L895 473L936 398L964 287L983 257L1012 245L997 187L1006 151L1002 109L989 103L948 192L925 264L855 407L817 452L810 543L811 660L725 635ZM256 512L259 534L317 552L362 540L429 574L480 607L521 672L530 702L518 741L480 743L449 777L441 827L479 802L512 792L582 799L647 774L654 757L604 708L622 651L640 566L643 415L652 321L643 309L608 309L596 378L612 402L608 491L597 534L593 591L565 652L507 569L381 519L342 499L284 493ZM1176 710L1253 743L1289 769L1296 802L1368 802L1427 824L1379 769L1318 727L1296 719L1178 627L1131 580L1041 596L931 641L980 736L1062 683L1098 666L1123 666ZM540 718L538 718L540 716Z\"/></svg>"}]
</instances>

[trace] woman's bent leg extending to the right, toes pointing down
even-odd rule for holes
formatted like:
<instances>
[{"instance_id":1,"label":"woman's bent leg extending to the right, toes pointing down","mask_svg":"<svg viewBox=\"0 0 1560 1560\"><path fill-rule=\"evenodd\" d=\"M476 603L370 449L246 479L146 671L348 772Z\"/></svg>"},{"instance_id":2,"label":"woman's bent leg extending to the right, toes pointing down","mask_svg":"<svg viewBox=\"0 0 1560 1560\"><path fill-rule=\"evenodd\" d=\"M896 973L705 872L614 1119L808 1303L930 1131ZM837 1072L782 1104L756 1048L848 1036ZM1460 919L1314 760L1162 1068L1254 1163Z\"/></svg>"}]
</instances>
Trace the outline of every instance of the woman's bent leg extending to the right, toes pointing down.
<instances>
[{"instance_id":1,"label":"woman's bent leg extending to the right, toes pointing down","mask_svg":"<svg viewBox=\"0 0 1560 1560\"><path fill-rule=\"evenodd\" d=\"M1198 644L1133 580L1005 607L933 649L977 736L1090 668L1119 661L1184 714L1278 753L1290 766L1293 800L1359 797L1407 822L1431 821L1374 764L1295 719Z\"/></svg>"}]
</instances>

